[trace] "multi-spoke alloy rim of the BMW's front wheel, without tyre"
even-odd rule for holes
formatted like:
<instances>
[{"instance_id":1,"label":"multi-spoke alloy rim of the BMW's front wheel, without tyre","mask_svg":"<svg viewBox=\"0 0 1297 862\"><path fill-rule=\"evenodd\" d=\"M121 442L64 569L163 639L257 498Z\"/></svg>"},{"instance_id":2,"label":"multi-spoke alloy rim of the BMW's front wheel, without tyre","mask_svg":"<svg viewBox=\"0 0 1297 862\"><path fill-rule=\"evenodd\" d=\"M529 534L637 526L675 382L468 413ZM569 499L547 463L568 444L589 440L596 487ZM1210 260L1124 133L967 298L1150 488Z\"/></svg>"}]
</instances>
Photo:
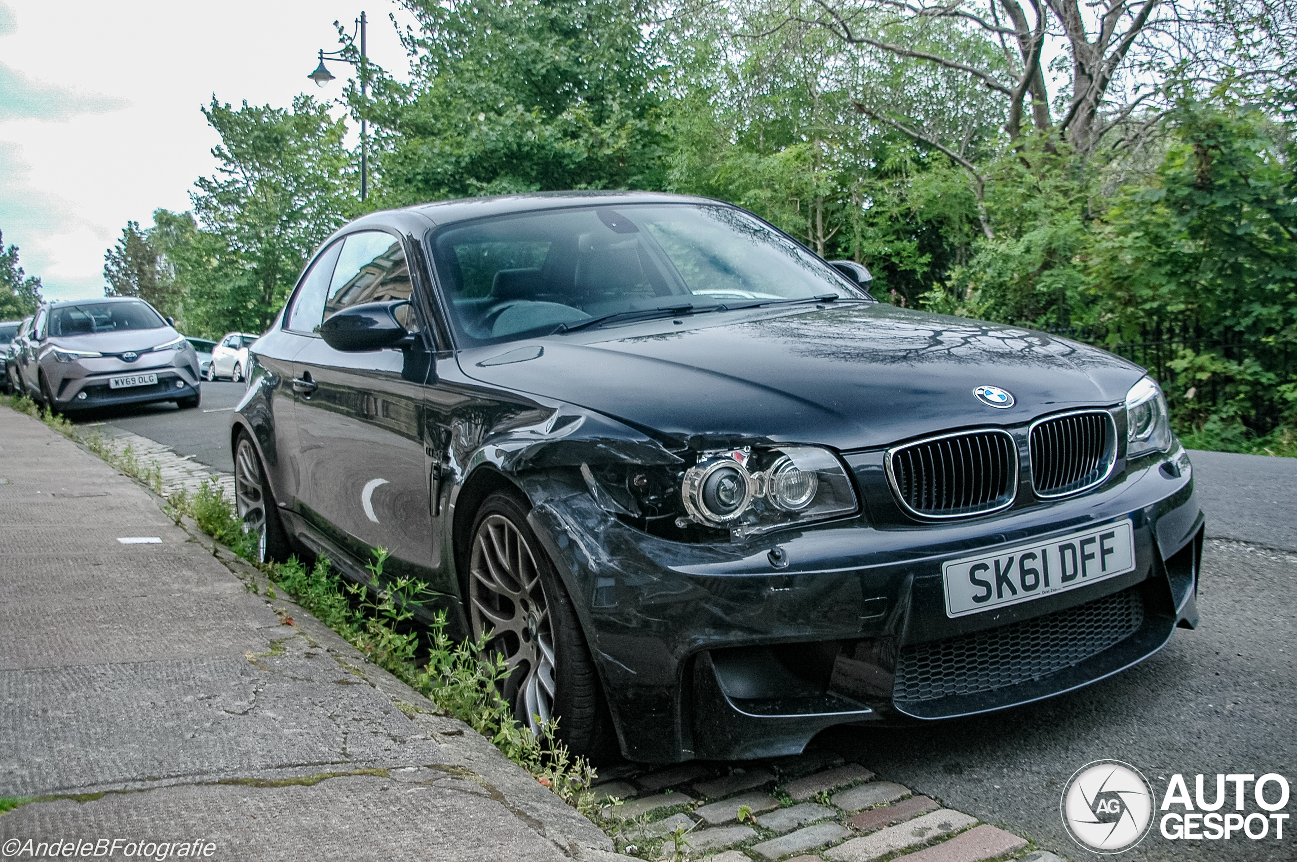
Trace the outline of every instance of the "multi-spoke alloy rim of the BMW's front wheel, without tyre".
<instances>
[{"instance_id":1,"label":"multi-spoke alloy rim of the BMW's front wheel, without tyre","mask_svg":"<svg viewBox=\"0 0 1297 862\"><path fill-rule=\"evenodd\" d=\"M473 635L492 631L488 651L510 669L505 699L533 734L554 716L554 621L541 583L538 550L505 515L477 525L468 565Z\"/></svg>"}]
</instances>

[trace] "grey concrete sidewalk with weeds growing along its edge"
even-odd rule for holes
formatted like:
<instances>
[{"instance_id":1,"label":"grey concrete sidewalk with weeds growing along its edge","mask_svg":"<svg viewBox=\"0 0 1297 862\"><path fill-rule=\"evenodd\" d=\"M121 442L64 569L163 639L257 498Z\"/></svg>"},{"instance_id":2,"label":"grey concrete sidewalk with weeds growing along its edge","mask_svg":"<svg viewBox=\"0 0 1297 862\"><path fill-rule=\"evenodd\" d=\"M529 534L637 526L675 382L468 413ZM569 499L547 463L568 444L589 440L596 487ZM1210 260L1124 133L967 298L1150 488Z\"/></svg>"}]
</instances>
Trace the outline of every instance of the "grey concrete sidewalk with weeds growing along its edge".
<instances>
[{"instance_id":1,"label":"grey concrete sidewalk with weeds growing along its edge","mask_svg":"<svg viewBox=\"0 0 1297 862\"><path fill-rule=\"evenodd\" d=\"M625 859L256 578L0 408L0 797L56 797L0 817L5 857L30 839L117 841L101 858Z\"/></svg>"}]
</instances>

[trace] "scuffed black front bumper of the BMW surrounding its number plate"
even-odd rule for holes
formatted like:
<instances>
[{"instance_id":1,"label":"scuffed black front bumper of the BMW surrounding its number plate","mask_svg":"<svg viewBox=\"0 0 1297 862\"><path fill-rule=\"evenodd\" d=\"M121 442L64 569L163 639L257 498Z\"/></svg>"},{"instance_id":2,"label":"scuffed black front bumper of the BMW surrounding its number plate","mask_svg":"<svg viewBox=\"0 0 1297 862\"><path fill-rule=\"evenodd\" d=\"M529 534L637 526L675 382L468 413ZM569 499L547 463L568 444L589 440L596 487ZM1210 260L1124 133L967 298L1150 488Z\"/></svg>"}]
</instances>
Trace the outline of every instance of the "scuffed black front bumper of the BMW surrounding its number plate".
<instances>
[{"instance_id":1,"label":"scuffed black front bumper of the BMW surrounding its number plate","mask_svg":"<svg viewBox=\"0 0 1297 862\"><path fill-rule=\"evenodd\" d=\"M877 455L843 458L868 487ZM1112 675L1197 623L1202 513L1180 448L1097 493L995 517L861 516L734 544L628 526L575 471L524 487L632 760L774 757L834 725L1014 706ZM1134 572L947 617L944 561L1122 518Z\"/></svg>"}]
</instances>

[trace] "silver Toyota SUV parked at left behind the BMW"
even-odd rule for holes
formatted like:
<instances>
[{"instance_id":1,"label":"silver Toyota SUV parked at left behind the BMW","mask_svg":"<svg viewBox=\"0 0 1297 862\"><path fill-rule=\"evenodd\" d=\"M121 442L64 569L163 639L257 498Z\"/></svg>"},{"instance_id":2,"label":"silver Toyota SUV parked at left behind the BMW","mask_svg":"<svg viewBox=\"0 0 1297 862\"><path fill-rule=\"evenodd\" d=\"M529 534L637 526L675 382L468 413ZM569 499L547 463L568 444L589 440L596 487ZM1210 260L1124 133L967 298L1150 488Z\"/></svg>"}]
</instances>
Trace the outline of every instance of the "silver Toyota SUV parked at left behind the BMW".
<instances>
[{"instance_id":1,"label":"silver Toyota SUV parked at left behind the BMW","mask_svg":"<svg viewBox=\"0 0 1297 862\"><path fill-rule=\"evenodd\" d=\"M47 303L32 323L25 386L57 411L152 401L197 407L198 356L171 323L132 297Z\"/></svg>"}]
</instances>

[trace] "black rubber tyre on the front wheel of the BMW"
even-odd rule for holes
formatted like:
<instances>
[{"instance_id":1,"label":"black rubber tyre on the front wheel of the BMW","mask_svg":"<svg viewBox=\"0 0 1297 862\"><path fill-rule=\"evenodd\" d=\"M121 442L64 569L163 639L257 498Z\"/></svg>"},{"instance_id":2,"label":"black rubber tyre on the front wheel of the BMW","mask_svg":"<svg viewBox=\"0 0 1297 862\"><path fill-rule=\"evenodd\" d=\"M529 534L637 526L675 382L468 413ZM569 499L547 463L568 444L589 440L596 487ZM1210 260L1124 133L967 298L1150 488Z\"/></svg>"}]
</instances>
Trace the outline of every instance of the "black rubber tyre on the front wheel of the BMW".
<instances>
[{"instance_id":1,"label":"black rubber tyre on the front wheel of the BMW","mask_svg":"<svg viewBox=\"0 0 1297 862\"><path fill-rule=\"evenodd\" d=\"M543 613L537 611L534 600L538 598L538 594L534 587L528 588L525 585L525 579L529 577L525 572L527 566L516 566L523 569L524 574L510 585L519 587L516 595L525 596L524 599L519 599L519 601L530 605L525 611L519 608L514 600L508 599L498 588L498 581L493 586L486 578L481 577L490 572L489 566L485 566L484 555L490 553L492 548L498 550L498 544L488 547L484 543L490 542L492 535L495 534L510 535L510 530L505 528L507 522L512 528L514 535L527 544L528 556L536 564L534 574L540 586L540 596L543 596L542 600L549 611L549 635L554 653L554 691L550 697L549 713L560 719L558 736L573 754L603 758L616 752L612 717L608 714L603 688L599 683L599 674L594 666L594 661L590 658L590 648L586 644L576 609L572 607L572 599L563 587L563 582L558 577L549 555L545 552L545 547L537 541L536 534L527 522L529 508L530 506L521 494L516 491L497 491L488 496L477 511L477 516L473 520L473 539L470 550L468 572L466 573L468 583L466 585L467 591L464 594L468 596L472 636L476 639L485 627L490 626L495 631L495 636L489 642L488 648L495 648L506 658L518 661L518 669L505 683L502 693L514 705L515 717L524 726L530 726L534 731L537 722L533 716L528 714L527 709L528 683L532 681L534 665L525 670L521 668L527 660L519 658L519 656L527 653L528 644L523 643L519 631L525 631L530 627L534 644L538 647L543 642L545 633L541 629L545 623L532 623L532 620L537 614L543 620ZM519 553L521 555L521 551ZM505 556L508 556L507 551ZM494 605L492 605L493 600L497 600ZM501 618L508 612L510 605L512 605L512 618L521 625L518 629L503 629L498 625L492 625L485 612ZM523 612L521 614L519 613L520 611ZM536 648L533 647L534 652ZM542 673L543 666L534 670L536 673ZM542 687L536 687L538 695ZM543 712L541 716L542 718L545 717Z\"/></svg>"}]
</instances>

